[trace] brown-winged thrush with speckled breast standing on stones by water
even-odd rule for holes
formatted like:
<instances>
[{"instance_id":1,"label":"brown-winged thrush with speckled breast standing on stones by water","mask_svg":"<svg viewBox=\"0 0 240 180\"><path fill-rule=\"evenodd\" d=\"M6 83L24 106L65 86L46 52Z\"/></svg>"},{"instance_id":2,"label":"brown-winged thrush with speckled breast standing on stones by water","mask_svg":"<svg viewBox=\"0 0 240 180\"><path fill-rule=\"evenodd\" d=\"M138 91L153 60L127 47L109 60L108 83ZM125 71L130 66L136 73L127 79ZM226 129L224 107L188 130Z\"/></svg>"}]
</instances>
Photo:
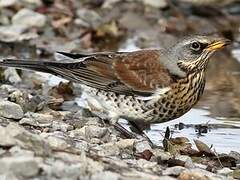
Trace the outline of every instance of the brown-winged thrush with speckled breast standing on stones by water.
<instances>
[{"instance_id":1,"label":"brown-winged thrush with speckled breast standing on stones by water","mask_svg":"<svg viewBox=\"0 0 240 180\"><path fill-rule=\"evenodd\" d=\"M117 124L145 126L176 119L200 99L210 57L230 44L214 35L192 35L165 49L90 54L58 52L71 61L3 59L0 66L50 73L85 87L90 110ZM123 130L122 126L117 126Z\"/></svg>"}]
</instances>

